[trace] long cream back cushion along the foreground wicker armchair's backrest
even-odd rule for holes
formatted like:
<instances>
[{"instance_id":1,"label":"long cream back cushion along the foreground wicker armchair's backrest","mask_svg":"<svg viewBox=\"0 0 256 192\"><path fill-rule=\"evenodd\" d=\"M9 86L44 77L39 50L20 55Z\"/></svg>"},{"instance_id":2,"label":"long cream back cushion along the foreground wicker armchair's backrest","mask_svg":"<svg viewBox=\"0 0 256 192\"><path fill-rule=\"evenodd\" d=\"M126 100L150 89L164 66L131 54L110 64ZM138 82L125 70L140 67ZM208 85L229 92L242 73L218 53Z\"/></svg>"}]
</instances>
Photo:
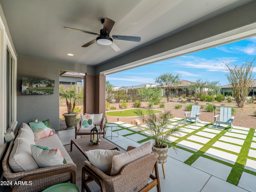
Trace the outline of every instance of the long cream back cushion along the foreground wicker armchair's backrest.
<instances>
[{"instance_id":1,"label":"long cream back cushion along the foreground wicker armchair's backrest","mask_svg":"<svg viewBox=\"0 0 256 192\"><path fill-rule=\"evenodd\" d=\"M152 152L152 143L148 142L130 151L113 156L110 176L115 176L119 174L120 170L124 165L138 158L141 158L147 154L150 154L151 152Z\"/></svg>"}]
</instances>

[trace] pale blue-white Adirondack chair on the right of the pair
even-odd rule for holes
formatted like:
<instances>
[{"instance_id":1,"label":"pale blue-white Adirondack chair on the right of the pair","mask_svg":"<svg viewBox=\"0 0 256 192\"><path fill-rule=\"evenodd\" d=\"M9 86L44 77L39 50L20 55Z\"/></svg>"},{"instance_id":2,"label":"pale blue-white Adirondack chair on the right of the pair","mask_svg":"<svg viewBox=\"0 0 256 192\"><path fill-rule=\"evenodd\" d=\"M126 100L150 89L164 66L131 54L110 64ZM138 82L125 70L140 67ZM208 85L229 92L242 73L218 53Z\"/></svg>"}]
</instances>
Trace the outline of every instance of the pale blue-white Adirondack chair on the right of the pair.
<instances>
[{"instance_id":1,"label":"pale blue-white Adirondack chair on the right of the pair","mask_svg":"<svg viewBox=\"0 0 256 192\"><path fill-rule=\"evenodd\" d=\"M220 117L220 120L217 121L217 117ZM215 126L217 128L217 124L230 125L230 131L232 131L232 123L235 117L231 117L231 107L220 107L220 115L215 115Z\"/></svg>"}]
</instances>

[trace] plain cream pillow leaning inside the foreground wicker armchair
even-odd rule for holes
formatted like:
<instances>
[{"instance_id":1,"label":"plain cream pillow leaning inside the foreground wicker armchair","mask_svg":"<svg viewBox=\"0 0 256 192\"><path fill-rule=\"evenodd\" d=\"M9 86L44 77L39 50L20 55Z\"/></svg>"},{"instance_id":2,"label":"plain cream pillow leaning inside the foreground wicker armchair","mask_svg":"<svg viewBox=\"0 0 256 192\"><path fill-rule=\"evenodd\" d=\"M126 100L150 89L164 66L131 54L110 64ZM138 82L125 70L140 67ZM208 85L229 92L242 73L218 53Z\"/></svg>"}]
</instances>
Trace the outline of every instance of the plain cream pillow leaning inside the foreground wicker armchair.
<instances>
[{"instance_id":1,"label":"plain cream pillow leaning inside the foreground wicker armchair","mask_svg":"<svg viewBox=\"0 0 256 192\"><path fill-rule=\"evenodd\" d=\"M98 167L105 174L110 175L112 158L114 155L121 154L118 150L94 149L85 151L91 164Z\"/></svg>"}]
</instances>

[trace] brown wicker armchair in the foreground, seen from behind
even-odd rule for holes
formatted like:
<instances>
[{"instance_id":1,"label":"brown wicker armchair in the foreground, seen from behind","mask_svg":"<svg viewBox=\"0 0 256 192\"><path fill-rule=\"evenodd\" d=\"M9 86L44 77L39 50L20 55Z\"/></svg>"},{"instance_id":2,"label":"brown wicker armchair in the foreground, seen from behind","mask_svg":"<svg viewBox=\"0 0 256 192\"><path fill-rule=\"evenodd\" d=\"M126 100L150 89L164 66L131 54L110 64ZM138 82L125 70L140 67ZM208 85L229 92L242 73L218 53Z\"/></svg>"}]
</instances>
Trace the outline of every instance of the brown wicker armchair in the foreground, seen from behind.
<instances>
[{"instance_id":1,"label":"brown wicker armchair in the foreground, seen from behind","mask_svg":"<svg viewBox=\"0 0 256 192\"><path fill-rule=\"evenodd\" d=\"M132 148L128 147L127 150L130 149ZM116 176L106 175L89 161L85 161L82 169L82 192L91 192L87 184L93 180L98 183L101 192L147 192L154 186L161 192L157 158L158 154L152 152L124 165ZM151 174L153 168L155 176ZM149 178L152 179L150 183Z\"/></svg>"}]
</instances>

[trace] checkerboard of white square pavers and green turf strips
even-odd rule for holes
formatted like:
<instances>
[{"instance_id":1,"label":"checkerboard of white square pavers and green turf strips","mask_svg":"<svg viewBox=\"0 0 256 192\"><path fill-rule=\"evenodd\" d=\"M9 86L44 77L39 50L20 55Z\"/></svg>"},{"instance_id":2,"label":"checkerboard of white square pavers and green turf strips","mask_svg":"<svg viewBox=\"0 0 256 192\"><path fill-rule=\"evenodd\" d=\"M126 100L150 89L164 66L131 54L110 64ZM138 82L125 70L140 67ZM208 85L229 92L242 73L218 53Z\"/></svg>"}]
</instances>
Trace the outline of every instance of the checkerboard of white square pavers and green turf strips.
<instances>
[{"instance_id":1,"label":"checkerboard of white square pavers and green turf strips","mask_svg":"<svg viewBox=\"0 0 256 192\"><path fill-rule=\"evenodd\" d=\"M228 127L215 128L214 123L185 123L184 119L173 118L172 125L183 123L181 136L174 135L168 143L169 147L176 147L192 155L184 163L192 165L198 158L207 158L229 166L231 171L227 182L238 185L243 172L256 175L256 130L244 127L234 127L230 131ZM150 135L138 131L136 127L118 122L118 131L129 130L129 134L123 135L129 139L136 134L138 143L151 140ZM141 137L138 137L138 135ZM142 137L143 136L143 137ZM209 165L210 166L210 165Z\"/></svg>"}]
</instances>

